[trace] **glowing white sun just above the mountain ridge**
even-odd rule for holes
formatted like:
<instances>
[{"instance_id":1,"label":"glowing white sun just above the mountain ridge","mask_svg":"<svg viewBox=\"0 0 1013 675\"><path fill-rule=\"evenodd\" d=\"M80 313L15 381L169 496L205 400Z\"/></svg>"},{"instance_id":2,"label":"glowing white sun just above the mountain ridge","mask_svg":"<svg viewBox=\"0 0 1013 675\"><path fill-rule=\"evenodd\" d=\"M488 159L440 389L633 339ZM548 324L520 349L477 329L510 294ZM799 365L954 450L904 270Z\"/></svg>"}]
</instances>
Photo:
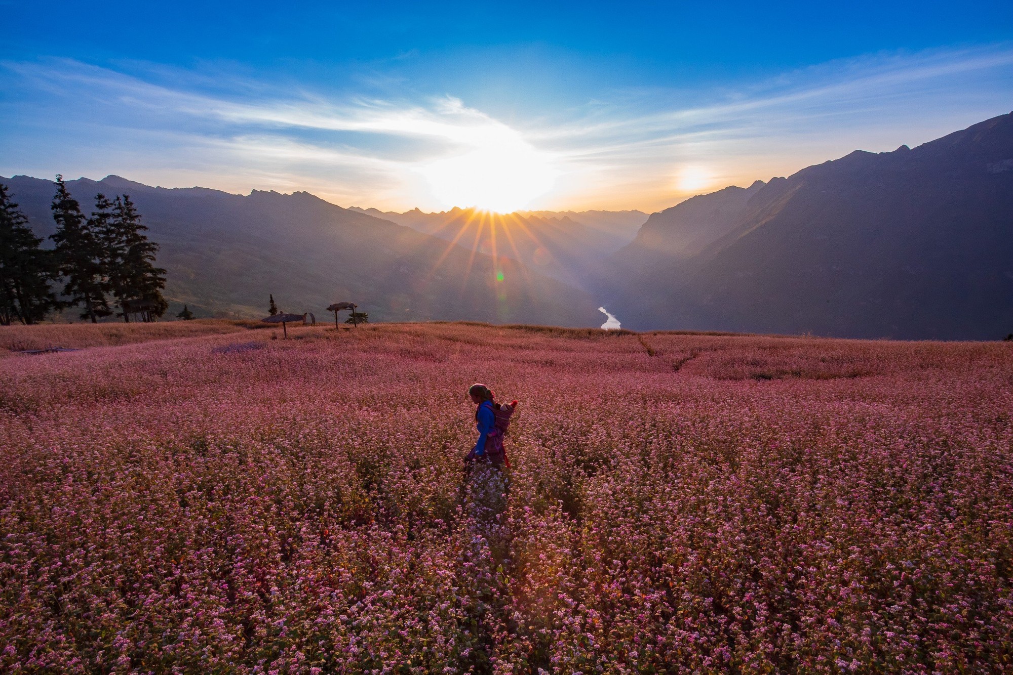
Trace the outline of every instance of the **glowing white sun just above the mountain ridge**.
<instances>
[{"instance_id":1,"label":"glowing white sun just above the mountain ridge","mask_svg":"<svg viewBox=\"0 0 1013 675\"><path fill-rule=\"evenodd\" d=\"M551 158L516 133L491 133L467 152L422 167L433 196L447 207L510 214L552 189Z\"/></svg>"}]
</instances>

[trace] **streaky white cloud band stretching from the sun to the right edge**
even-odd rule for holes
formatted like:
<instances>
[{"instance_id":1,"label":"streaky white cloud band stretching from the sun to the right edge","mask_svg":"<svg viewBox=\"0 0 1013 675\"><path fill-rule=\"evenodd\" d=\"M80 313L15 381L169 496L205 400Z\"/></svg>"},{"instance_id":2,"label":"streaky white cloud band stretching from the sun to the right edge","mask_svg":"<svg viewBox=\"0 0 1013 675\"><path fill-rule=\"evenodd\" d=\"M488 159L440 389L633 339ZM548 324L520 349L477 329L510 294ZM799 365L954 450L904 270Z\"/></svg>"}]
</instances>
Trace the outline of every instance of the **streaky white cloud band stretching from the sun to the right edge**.
<instances>
[{"instance_id":1,"label":"streaky white cloud band stretching from the sun to the right edge","mask_svg":"<svg viewBox=\"0 0 1013 675\"><path fill-rule=\"evenodd\" d=\"M687 167L710 187L785 175L857 148L924 143L1008 110L1013 46L875 55L785 73L719 92L653 90L601 99L586 116L545 126L533 142L580 167L591 191L672 200ZM658 108L653 100L681 98ZM663 201L657 205L665 205Z\"/></svg>"}]
</instances>

